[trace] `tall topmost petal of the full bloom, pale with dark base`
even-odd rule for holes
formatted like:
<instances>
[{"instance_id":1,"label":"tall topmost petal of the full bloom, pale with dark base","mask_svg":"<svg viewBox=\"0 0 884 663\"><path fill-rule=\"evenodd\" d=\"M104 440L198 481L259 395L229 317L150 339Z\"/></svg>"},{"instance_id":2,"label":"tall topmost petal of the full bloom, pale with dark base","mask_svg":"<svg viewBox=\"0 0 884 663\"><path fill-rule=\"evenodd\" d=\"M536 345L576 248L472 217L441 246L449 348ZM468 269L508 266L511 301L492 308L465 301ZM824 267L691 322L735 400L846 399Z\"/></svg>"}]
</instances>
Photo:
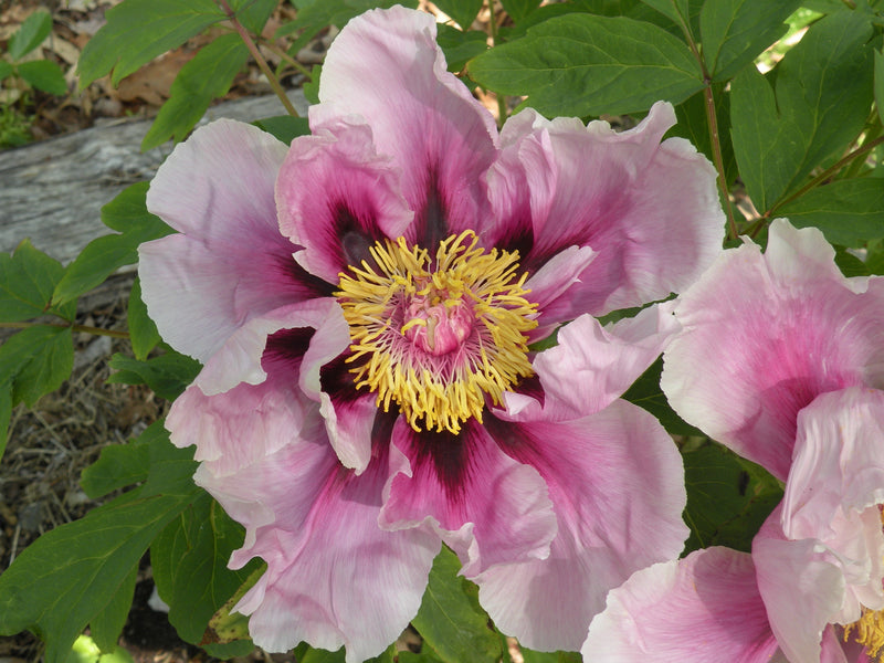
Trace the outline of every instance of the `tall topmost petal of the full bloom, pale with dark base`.
<instances>
[{"instance_id":1,"label":"tall topmost petal of the full bloom, pale with dark base","mask_svg":"<svg viewBox=\"0 0 884 663\"><path fill-rule=\"evenodd\" d=\"M435 22L401 7L351 20L335 39L311 126L359 116L378 154L401 170L415 212L412 242L440 239L490 217L482 175L495 158L494 118L453 74L435 43Z\"/></svg>"}]
</instances>

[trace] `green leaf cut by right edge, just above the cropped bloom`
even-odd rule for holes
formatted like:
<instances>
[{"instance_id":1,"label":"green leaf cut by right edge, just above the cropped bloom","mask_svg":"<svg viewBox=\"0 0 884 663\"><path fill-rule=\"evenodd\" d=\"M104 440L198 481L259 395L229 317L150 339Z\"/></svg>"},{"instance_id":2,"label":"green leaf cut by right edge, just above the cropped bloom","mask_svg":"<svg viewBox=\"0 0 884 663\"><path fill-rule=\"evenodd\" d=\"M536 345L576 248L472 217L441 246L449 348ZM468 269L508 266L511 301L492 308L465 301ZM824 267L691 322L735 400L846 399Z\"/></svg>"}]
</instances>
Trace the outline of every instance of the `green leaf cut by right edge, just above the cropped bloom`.
<instances>
[{"instance_id":1,"label":"green leaf cut by right edge, just above the cropped bloom","mask_svg":"<svg viewBox=\"0 0 884 663\"><path fill-rule=\"evenodd\" d=\"M884 180L835 180L777 210L796 228L813 225L833 244L861 246L884 238Z\"/></svg>"}]
</instances>

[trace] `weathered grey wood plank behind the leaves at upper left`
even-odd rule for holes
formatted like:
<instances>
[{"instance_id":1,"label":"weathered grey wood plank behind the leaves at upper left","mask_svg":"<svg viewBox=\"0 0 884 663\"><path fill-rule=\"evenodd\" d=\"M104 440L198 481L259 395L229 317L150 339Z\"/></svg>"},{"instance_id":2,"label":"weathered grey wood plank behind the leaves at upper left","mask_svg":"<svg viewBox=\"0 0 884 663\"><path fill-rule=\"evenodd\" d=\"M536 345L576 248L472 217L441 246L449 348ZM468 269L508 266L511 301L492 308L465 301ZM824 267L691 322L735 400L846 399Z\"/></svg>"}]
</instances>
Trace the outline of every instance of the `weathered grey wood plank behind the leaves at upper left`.
<instances>
[{"instance_id":1,"label":"weathered grey wood plank behind the leaves at upper left","mask_svg":"<svg viewBox=\"0 0 884 663\"><path fill-rule=\"evenodd\" d=\"M298 113L307 102L290 93ZM271 95L225 102L208 110L201 124L219 117L254 120L282 115ZM127 186L154 176L172 144L141 152L150 120L119 122L0 152L0 251L24 238L66 264L90 241L110 232L102 207Z\"/></svg>"}]
</instances>

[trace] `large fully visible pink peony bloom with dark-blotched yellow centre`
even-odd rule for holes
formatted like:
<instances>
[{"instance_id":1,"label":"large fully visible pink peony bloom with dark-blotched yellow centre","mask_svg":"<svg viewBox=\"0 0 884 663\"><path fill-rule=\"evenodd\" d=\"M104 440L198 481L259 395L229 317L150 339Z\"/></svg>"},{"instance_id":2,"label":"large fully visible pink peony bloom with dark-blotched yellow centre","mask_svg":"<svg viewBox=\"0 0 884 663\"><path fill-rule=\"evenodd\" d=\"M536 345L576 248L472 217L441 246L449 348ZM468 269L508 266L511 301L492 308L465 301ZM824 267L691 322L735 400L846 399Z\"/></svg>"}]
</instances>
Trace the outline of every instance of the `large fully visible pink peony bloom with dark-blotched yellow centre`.
<instances>
[{"instance_id":1,"label":"large fully visible pink peony bloom with dark-blotched yellow centre","mask_svg":"<svg viewBox=\"0 0 884 663\"><path fill-rule=\"evenodd\" d=\"M167 419L267 564L254 641L361 661L420 607L442 543L502 629L577 649L604 592L677 555L683 470L619 399L677 324L589 315L685 287L719 252L715 175L659 104L634 129L525 110L498 135L432 17L335 40L291 148L218 122L179 145L140 249L151 317L204 364ZM560 345L529 345L556 326Z\"/></svg>"}]
</instances>

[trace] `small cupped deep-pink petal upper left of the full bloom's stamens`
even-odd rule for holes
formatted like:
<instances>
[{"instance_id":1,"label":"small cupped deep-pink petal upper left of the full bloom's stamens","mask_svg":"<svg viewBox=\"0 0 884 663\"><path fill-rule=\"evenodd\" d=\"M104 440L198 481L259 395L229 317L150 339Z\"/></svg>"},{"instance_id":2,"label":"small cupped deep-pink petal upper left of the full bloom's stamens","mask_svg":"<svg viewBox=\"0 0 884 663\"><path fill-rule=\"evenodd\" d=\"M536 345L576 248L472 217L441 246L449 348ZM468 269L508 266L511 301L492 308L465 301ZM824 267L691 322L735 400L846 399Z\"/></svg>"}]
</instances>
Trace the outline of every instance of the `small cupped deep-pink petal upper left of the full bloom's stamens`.
<instances>
[{"instance_id":1,"label":"small cupped deep-pink petal upper left of the full bloom's stamens","mask_svg":"<svg viewBox=\"0 0 884 663\"><path fill-rule=\"evenodd\" d=\"M348 265L372 262L368 249L396 239L413 213L398 190L399 170L375 154L371 130L339 123L292 143L276 180L280 228L311 274L338 283Z\"/></svg>"}]
</instances>

